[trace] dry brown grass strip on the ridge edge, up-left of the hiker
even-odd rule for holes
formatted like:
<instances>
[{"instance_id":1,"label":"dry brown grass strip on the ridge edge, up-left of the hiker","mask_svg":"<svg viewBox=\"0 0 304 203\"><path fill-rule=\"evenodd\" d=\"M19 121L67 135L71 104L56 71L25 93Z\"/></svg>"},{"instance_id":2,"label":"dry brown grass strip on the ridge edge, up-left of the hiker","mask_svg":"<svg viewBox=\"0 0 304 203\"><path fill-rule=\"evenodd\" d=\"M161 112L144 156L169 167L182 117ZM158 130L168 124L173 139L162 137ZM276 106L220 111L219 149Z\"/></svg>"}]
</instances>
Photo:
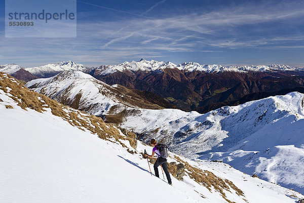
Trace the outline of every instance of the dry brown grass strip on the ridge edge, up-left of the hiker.
<instances>
[{"instance_id":1,"label":"dry brown grass strip on the ridge edge, up-left of the hiker","mask_svg":"<svg viewBox=\"0 0 304 203\"><path fill-rule=\"evenodd\" d=\"M5 76L3 73L0 73L0 78L0 89L8 93L9 96L16 101L17 105L25 111L29 108L42 113L46 111L46 108L50 108L53 115L61 117L72 126L78 127L81 130L89 130L91 133L97 134L101 139L120 143L126 148L127 146L121 141L131 141L131 138L121 136L115 126L106 124L100 117L71 109L43 94L33 92L9 75ZM8 91L7 87L11 88L11 90Z\"/></svg>"}]
</instances>

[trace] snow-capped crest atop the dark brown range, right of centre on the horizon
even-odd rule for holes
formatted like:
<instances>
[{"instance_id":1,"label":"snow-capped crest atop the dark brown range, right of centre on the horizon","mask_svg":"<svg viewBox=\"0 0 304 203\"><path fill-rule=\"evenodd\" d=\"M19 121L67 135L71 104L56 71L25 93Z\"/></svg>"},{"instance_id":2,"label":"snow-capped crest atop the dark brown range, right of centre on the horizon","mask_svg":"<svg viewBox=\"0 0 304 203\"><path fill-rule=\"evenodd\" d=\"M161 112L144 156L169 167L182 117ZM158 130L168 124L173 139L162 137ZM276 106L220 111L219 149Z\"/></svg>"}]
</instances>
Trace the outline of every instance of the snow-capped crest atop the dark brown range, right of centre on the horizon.
<instances>
[{"instance_id":1,"label":"snow-capped crest atop the dark brown range, right of centre on the horizon","mask_svg":"<svg viewBox=\"0 0 304 203\"><path fill-rule=\"evenodd\" d=\"M192 71L201 71L207 73L213 72L222 72L222 71L235 71L235 72L265 72L265 71L303 71L303 69L299 69L298 67L291 67L288 65L245 65L245 66L223 66L223 65L206 65L199 64L197 62L184 62L179 64L174 64L172 62L164 62L164 61L156 61L156 60L145 60L141 59L140 61L125 61L124 63L118 65L102 65L98 70L99 75L109 75L115 73L117 71L161 71L163 69L179 69L181 71L192 72Z\"/></svg>"}]
</instances>

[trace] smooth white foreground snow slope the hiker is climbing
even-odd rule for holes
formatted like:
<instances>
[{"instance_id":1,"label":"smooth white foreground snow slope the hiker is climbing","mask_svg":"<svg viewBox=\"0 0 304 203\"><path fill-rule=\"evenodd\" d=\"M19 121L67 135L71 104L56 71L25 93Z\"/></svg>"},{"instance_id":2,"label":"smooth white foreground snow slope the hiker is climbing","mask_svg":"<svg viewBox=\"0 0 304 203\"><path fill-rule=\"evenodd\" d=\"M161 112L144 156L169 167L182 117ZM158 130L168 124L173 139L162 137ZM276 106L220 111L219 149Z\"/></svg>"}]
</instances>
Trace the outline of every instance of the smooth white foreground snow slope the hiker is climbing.
<instances>
[{"instance_id":1,"label":"smooth white foreground snow slope the hiker is climbing","mask_svg":"<svg viewBox=\"0 0 304 203\"><path fill-rule=\"evenodd\" d=\"M0 74L2 81L5 83L0 84L18 84ZM126 145L123 147L115 140L99 139L89 130L55 116L48 105L43 105L43 113L22 109L17 104L23 101L14 99L14 89L0 87L0 202L155 202L157 197L165 202L227 202L219 192L212 188L210 192L188 175L184 181L173 178L173 186L168 185L149 174L146 159L140 154L127 152L126 148L131 148L128 142L121 141ZM20 88L24 89L21 85ZM49 103L43 96L38 98ZM70 108L64 111L78 112ZM103 129L106 128L110 127ZM136 151L143 149L151 151L151 147L138 143ZM304 198L224 163L179 159L232 181L244 196L232 188L232 192L224 190L231 201L295 202ZM172 160L169 158L169 162ZM158 195L151 198L150 194Z\"/></svg>"}]
</instances>

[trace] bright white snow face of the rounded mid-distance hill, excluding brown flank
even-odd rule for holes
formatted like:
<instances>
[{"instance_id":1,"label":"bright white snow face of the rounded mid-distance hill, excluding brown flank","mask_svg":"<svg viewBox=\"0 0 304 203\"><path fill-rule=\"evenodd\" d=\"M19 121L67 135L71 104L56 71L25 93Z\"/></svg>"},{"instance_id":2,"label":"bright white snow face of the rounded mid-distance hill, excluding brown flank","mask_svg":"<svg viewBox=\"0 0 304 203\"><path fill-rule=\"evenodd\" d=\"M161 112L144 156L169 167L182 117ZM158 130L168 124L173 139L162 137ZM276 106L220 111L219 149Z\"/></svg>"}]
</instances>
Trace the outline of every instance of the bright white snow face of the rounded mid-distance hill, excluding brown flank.
<instances>
[{"instance_id":1,"label":"bright white snow face of the rounded mid-distance hill, excluding brown flank","mask_svg":"<svg viewBox=\"0 0 304 203\"><path fill-rule=\"evenodd\" d=\"M61 80L61 78L64 78L64 80ZM89 96L92 99L80 100L80 106L82 106L82 109L93 106L92 111L95 115L105 114L112 106L120 105L118 100L111 95L113 94L110 91L110 89L113 89L111 86L101 81L98 81L97 83L99 87L93 86L92 80L97 82L92 76L80 71L67 71L51 78L32 80L28 82L26 86L34 86L35 91L44 92L44 94L52 99L63 100L67 97L66 100L70 100L70 104L72 104L75 97L80 93L82 94L82 98ZM99 94L100 92L104 92L104 94L108 95Z\"/></svg>"}]
</instances>

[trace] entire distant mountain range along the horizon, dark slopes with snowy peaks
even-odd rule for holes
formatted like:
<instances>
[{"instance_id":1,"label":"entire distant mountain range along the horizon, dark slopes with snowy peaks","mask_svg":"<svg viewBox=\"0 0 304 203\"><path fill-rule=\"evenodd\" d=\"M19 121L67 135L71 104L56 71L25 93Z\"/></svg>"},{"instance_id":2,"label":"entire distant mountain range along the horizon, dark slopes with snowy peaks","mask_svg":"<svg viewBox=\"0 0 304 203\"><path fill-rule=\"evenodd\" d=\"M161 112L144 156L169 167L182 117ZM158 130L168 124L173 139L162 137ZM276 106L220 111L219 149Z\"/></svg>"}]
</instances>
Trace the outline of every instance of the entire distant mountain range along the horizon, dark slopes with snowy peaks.
<instances>
[{"instance_id":1,"label":"entire distant mountain range along the horizon, dark slopes with snowy peaks","mask_svg":"<svg viewBox=\"0 0 304 203\"><path fill-rule=\"evenodd\" d=\"M170 108L199 113L292 91L304 93L304 69L278 64L222 66L141 59L99 67L86 67L72 61L25 69L16 66L0 66L0 72L27 82L63 71L82 71L108 85L120 84L139 90L147 99L147 95L157 95L158 98L151 98L151 103L157 104L155 101L161 97L170 103ZM168 104L165 107L168 108Z\"/></svg>"}]
</instances>

